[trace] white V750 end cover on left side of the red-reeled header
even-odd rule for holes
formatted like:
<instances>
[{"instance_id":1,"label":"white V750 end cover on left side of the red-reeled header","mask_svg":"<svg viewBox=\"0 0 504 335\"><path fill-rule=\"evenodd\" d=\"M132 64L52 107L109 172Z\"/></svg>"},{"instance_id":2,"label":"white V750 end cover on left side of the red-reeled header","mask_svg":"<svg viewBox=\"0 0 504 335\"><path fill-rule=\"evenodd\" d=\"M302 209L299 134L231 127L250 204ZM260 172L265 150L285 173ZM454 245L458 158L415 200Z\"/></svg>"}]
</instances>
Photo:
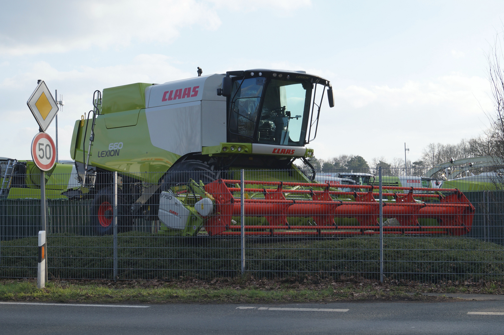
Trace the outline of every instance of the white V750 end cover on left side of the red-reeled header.
<instances>
[{"instance_id":1,"label":"white V750 end cover on left side of the red-reeled header","mask_svg":"<svg viewBox=\"0 0 504 335\"><path fill-rule=\"evenodd\" d=\"M189 217L189 210L171 192L161 192L159 197L159 220L171 229L182 230Z\"/></svg>"}]
</instances>

